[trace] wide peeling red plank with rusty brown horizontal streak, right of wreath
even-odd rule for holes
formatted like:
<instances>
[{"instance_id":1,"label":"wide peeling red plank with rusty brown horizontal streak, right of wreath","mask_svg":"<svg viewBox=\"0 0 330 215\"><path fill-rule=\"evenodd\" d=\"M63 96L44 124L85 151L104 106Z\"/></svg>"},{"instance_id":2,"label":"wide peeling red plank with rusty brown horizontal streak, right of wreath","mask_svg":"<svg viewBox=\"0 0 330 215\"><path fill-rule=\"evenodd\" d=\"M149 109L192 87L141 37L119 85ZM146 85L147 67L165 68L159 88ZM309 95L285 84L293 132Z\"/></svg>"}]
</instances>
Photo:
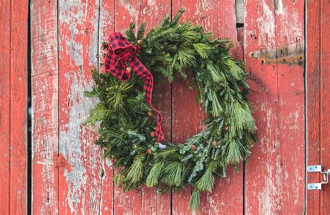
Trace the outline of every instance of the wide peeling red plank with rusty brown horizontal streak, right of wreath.
<instances>
[{"instance_id":1,"label":"wide peeling red plank with rusty brown horizontal streak, right of wreath","mask_svg":"<svg viewBox=\"0 0 330 215\"><path fill-rule=\"evenodd\" d=\"M246 213L301 214L304 1L250 0L245 10L246 70L260 140L246 165Z\"/></svg>"}]
</instances>

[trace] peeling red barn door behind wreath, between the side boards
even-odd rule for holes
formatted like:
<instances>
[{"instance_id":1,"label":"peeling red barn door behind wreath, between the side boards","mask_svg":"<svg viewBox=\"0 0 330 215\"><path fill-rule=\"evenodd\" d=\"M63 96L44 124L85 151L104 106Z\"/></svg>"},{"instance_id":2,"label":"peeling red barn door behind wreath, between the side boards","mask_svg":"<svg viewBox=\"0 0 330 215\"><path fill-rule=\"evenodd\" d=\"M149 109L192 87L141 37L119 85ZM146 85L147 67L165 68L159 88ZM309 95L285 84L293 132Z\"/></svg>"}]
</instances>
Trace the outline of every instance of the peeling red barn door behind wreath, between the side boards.
<instances>
[{"instance_id":1,"label":"peeling red barn door behind wreath, between the side boards","mask_svg":"<svg viewBox=\"0 0 330 215\"><path fill-rule=\"evenodd\" d=\"M31 0L33 213L191 214L189 188L160 196L113 186L112 161L93 145L96 132L81 125L94 105L83 92L93 84L89 69L100 61L102 40L129 22L150 29L180 8L182 20L233 40L233 56L246 61L259 128L249 164L217 180L201 196L199 214L304 212L304 1L246 0L239 31L235 2ZM205 115L186 80L159 86L155 96L167 140L180 143L203 129Z\"/></svg>"}]
</instances>

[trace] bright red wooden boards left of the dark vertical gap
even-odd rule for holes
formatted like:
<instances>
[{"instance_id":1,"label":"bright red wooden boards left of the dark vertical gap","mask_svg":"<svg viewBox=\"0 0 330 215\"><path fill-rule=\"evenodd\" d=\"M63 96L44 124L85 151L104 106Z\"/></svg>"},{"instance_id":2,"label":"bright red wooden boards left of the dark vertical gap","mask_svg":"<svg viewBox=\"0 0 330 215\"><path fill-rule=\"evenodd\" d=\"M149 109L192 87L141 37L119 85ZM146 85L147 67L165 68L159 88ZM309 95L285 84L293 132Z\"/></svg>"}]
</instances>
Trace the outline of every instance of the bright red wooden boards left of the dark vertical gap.
<instances>
[{"instance_id":1,"label":"bright red wooden boards left of the dark vertical gap","mask_svg":"<svg viewBox=\"0 0 330 215\"><path fill-rule=\"evenodd\" d=\"M27 211L28 1L0 1L0 214Z\"/></svg>"}]
</instances>

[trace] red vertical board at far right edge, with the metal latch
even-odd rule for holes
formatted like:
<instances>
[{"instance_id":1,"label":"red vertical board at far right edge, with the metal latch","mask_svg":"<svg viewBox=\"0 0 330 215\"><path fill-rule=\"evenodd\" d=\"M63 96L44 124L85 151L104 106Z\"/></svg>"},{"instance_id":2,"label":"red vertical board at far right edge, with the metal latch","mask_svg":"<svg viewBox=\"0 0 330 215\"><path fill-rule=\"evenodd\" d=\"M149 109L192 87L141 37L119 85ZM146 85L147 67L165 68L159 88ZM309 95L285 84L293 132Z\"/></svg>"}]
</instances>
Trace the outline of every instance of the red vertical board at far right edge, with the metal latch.
<instances>
[{"instance_id":1,"label":"red vertical board at far right edge, with the metal latch","mask_svg":"<svg viewBox=\"0 0 330 215\"><path fill-rule=\"evenodd\" d=\"M306 99L307 165L330 169L330 2L307 1ZM308 173L308 183L322 181L320 173ZM330 186L307 191L308 214L330 214Z\"/></svg>"}]
</instances>

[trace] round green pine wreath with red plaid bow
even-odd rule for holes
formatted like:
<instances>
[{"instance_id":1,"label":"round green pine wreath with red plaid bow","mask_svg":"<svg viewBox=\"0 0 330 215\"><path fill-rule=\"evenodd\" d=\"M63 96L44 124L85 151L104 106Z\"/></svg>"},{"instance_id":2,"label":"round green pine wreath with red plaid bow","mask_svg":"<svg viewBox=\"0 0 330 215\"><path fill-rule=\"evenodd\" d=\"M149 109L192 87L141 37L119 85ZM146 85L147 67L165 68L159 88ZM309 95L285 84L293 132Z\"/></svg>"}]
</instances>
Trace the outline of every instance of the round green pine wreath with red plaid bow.
<instances>
[{"instance_id":1,"label":"round green pine wreath with red plaid bow","mask_svg":"<svg viewBox=\"0 0 330 215\"><path fill-rule=\"evenodd\" d=\"M157 186L165 193L189 184L194 189L189 207L198 210L200 192L212 192L214 179L226 177L228 165L246 161L256 125L246 99L244 63L230 56L233 44L212 39L201 26L178 23L183 12L172 21L167 16L145 37L144 23L137 35L135 24L126 38L111 33L100 64L107 72L91 70L95 86L85 95L98 103L85 123L97 125L95 143L119 169L116 186L125 191ZM191 77L189 88L198 90L196 101L208 113L206 129L178 145L162 141L162 115L151 103L153 79L157 84L177 76Z\"/></svg>"}]
</instances>

